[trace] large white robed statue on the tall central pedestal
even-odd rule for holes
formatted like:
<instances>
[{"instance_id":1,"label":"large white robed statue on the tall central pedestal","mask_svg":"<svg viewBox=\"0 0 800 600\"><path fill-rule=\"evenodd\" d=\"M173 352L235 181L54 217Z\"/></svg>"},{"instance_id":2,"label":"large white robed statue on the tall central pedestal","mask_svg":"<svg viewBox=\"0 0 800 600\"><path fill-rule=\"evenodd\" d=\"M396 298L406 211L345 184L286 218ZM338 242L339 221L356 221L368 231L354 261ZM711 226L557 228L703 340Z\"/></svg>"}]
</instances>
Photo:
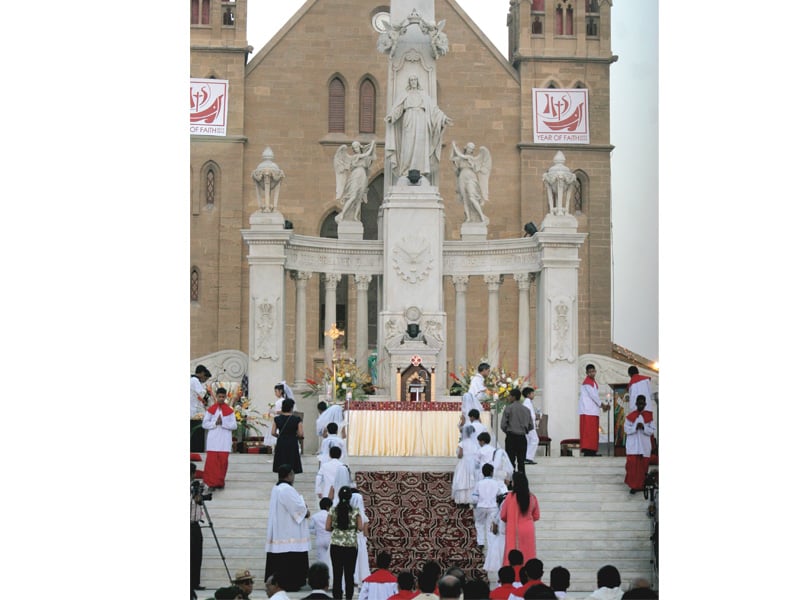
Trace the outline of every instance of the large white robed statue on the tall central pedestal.
<instances>
[{"instance_id":1,"label":"large white robed statue on the tall central pedestal","mask_svg":"<svg viewBox=\"0 0 800 600\"><path fill-rule=\"evenodd\" d=\"M408 78L407 93L386 116L386 156L395 176L416 169L436 183L442 152L442 135L453 120L444 114L420 87L419 78Z\"/></svg>"}]
</instances>

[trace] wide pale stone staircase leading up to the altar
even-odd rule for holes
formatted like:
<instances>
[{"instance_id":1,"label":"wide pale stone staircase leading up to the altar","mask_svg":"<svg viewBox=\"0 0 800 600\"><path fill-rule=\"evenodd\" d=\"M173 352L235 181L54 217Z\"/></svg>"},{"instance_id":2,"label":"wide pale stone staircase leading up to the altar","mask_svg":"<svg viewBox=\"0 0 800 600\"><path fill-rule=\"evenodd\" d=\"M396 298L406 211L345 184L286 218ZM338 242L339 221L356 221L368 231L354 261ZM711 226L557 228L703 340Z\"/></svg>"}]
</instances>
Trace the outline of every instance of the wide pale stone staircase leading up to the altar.
<instances>
[{"instance_id":1,"label":"wide pale stone staircase leading up to the altar","mask_svg":"<svg viewBox=\"0 0 800 600\"><path fill-rule=\"evenodd\" d=\"M550 569L562 565L570 571L570 595L581 597L595 589L597 570L613 564L620 571L624 589L635 577L646 577L657 588L651 564L649 501L641 493L628 493L623 483L625 458L537 456L536 461L538 464L526 466L526 473L542 515L536 523L536 547L544 562L545 582ZM354 476L359 471L452 472L456 459L350 457L349 464ZM316 458L304 455L303 473L296 476L294 485L312 513L319 509L314 493L316 472ZM272 455L231 454L225 489L214 492L207 503L230 574L246 568L255 577L252 598L266 597L264 542L269 494L276 481ZM311 561L316 559L313 546L309 549ZM490 581L496 576L489 574ZM207 591L198 592L199 598L213 596L213 590L228 581L208 527L203 528L201 581ZM301 598L307 593L291 596Z\"/></svg>"}]
</instances>

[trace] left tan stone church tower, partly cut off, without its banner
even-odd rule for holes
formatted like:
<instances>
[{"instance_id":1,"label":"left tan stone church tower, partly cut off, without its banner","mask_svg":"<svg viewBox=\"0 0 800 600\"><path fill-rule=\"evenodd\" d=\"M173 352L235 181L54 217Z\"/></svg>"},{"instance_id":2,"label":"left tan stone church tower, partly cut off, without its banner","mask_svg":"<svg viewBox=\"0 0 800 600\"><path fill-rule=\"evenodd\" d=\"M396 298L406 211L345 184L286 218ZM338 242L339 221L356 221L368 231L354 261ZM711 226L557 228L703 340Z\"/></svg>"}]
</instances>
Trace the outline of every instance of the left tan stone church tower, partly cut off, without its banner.
<instances>
[{"instance_id":1,"label":"left tan stone church tower, partly cut off, without its banner","mask_svg":"<svg viewBox=\"0 0 800 600\"><path fill-rule=\"evenodd\" d=\"M247 348L247 331L239 326L247 322L239 230L246 221L244 80L252 48L247 0L191 0L190 19L190 77L227 82L225 134L191 135L191 352L197 355Z\"/></svg>"}]
</instances>

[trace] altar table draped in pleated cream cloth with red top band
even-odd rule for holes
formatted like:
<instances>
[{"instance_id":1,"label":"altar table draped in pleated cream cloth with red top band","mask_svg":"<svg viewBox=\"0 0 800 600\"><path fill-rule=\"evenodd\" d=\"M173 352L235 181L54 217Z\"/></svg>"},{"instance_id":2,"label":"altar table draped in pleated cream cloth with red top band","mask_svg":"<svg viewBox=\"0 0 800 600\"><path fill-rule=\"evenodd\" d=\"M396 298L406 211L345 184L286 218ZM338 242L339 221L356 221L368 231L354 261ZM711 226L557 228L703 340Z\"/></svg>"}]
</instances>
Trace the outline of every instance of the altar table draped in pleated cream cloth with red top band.
<instances>
[{"instance_id":1,"label":"altar table draped in pleated cream cloth with red top band","mask_svg":"<svg viewBox=\"0 0 800 600\"><path fill-rule=\"evenodd\" d=\"M350 456L456 457L461 402L351 402L347 452ZM491 430L491 413L481 412Z\"/></svg>"}]
</instances>

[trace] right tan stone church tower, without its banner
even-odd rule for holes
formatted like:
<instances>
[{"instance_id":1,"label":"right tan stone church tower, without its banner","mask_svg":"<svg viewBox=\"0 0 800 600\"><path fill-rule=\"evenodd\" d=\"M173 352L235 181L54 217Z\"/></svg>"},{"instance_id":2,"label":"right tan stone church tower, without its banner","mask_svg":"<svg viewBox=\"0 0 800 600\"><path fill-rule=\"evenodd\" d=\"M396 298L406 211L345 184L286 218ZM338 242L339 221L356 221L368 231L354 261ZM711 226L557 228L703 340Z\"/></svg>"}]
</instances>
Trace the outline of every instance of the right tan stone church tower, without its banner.
<instances>
[{"instance_id":1,"label":"right tan stone church tower, without its banner","mask_svg":"<svg viewBox=\"0 0 800 600\"><path fill-rule=\"evenodd\" d=\"M523 214L547 213L543 173L556 152L580 184L570 212L588 233L580 251L579 351L611 355L611 0L510 0L508 59L520 77ZM534 89L588 90L589 142L534 139ZM562 96L555 92L553 97ZM538 221L537 221L538 223Z\"/></svg>"}]
</instances>

